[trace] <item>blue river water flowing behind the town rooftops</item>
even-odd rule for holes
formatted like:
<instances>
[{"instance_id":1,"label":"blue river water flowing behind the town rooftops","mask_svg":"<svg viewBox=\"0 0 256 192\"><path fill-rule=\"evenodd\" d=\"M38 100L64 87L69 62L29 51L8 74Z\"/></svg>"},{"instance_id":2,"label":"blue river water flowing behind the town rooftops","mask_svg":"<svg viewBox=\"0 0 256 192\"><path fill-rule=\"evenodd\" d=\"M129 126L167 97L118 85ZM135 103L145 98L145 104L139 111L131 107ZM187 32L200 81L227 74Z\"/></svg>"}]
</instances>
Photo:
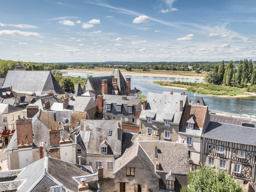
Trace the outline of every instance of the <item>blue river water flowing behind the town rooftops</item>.
<instances>
[{"instance_id":1,"label":"blue river water flowing behind the town rooftops","mask_svg":"<svg viewBox=\"0 0 256 192\"><path fill-rule=\"evenodd\" d=\"M87 73L65 72L63 76L81 76L87 77ZM106 74L89 73L94 77L96 76L108 76ZM182 93L180 89L170 89L161 87L159 84L155 84L154 81L191 81L191 82L203 82L203 79L187 79L187 78L165 78L165 77L147 77L147 76L124 76L131 77L131 88L136 87L142 91L142 95L147 95L148 92L162 93L163 91L173 91ZM150 81L145 81L150 80ZM83 87L83 85L81 85ZM185 91L188 95L188 99L191 101L195 99L195 93ZM256 97L240 97L240 98L221 98L209 95L202 95L196 93L196 95L203 96L204 102L208 105L210 110L225 111L229 113L240 114L240 108L243 107L242 114L256 115Z\"/></svg>"}]
</instances>

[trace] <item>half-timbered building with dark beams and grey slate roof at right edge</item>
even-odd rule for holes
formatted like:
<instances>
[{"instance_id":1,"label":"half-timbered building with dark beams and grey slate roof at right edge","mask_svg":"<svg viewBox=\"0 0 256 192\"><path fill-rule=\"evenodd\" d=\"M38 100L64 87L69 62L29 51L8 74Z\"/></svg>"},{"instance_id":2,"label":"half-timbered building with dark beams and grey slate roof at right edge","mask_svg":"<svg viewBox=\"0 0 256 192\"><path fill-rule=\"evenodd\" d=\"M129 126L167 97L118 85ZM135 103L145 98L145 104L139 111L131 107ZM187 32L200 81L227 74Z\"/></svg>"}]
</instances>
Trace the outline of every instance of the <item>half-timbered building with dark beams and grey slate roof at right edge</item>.
<instances>
[{"instance_id":1,"label":"half-timbered building with dark beams and grey slate roof at right edge","mask_svg":"<svg viewBox=\"0 0 256 192\"><path fill-rule=\"evenodd\" d=\"M256 122L211 114L203 134L202 162L240 182L255 182Z\"/></svg>"}]
</instances>

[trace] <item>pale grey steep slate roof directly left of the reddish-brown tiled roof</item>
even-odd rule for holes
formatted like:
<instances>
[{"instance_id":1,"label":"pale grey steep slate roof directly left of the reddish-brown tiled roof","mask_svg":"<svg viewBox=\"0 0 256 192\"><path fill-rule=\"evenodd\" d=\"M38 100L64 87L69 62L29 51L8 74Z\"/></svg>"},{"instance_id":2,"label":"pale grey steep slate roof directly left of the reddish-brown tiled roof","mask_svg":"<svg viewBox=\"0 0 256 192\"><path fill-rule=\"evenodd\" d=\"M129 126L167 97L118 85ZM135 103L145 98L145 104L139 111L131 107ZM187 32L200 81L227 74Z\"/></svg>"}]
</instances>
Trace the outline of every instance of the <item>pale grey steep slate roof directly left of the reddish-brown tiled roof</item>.
<instances>
[{"instance_id":1,"label":"pale grey steep slate roof directly left of the reddish-brown tiled roof","mask_svg":"<svg viewBox=\"0 0 256 192\"><path fill-rule=\"evenodd\" d=\"M140 119L147 119L147 117L153 117L153 120L164 123L164 117L166 113L169 116L173 115L171 123L180 124L182 111L186 104L188 104L188 98L186 95L166 95L154 92L148 92L147 105L145 109L141 110ZM182 111L180 111L180 100L183 100Z\"/></svg>"}]
</instances>

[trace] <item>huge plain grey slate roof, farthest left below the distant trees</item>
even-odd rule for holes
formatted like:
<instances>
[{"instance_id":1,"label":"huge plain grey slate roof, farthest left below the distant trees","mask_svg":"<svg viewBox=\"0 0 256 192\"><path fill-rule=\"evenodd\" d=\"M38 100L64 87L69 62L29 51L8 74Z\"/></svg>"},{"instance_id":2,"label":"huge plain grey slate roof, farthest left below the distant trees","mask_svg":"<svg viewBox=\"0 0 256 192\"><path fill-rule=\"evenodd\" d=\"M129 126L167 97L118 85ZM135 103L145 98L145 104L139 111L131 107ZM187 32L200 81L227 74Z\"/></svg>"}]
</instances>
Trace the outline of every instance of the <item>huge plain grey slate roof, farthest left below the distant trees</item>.
<instances>
[{"instance_id":1,"label":"huge plain grey slate roof, farthest left below the distant trees","mask_svg":"<svg viewBox=\"0 0 256 192\"><path fill-rule=\"evenodd\" d=\"M35 92L37 95L44 95L49 91L54 94L65 93L50 71L10 70L5 76L3 87L11 85L12 90L18 93Z\"/></svg>"}]
</instances>

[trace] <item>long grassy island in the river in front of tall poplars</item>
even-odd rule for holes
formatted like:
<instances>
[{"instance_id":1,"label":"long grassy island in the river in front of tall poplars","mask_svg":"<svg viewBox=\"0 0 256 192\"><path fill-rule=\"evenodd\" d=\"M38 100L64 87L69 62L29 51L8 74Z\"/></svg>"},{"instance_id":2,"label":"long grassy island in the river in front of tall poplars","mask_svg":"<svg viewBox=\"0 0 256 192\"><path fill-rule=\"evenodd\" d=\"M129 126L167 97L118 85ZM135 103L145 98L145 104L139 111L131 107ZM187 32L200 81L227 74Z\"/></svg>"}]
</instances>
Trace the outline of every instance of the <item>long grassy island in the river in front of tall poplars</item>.
<instances>
[{"instance_id":1,"label":"long grassy island in the river in front of tall poplars","mask_svg":"<svg viewBox=\"0 0 256 192\"><path fill-rule=\"evenodd\" d=\"M154 81L154 83L160 84L162 86L173 86L173 87L183 87L188 91L197 92L199 94L205 95L225 95L225 96L236 96L236 95L248 95L243 89L228 87L223 85L214 85L208 83L193 83L193 82L183 82L183 81Z\"/></svg>"}]
</instances>

